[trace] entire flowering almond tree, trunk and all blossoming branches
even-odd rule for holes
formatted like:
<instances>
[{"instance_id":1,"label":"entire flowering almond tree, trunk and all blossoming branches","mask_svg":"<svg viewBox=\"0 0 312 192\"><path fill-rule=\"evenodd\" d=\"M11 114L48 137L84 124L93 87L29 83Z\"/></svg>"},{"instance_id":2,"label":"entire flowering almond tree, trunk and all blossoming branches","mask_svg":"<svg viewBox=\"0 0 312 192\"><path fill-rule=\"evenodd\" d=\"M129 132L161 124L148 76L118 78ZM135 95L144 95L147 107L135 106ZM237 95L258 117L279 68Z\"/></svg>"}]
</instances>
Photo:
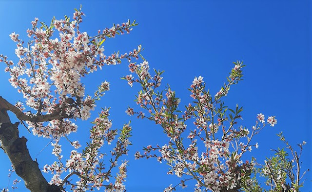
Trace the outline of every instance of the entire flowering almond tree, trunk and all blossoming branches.
<instances>
[{"instance_id":1,"label":"entire flowering almond tree, trunk and all blossoming branches","mask_svg":"<svg viewBox=\"0 0 312 192\"><path fill-rule=\"evenodd\" d=\"M195 181L195 192L266 191L258 184L257 177L253 177L257 173L267 178L270 192L299 190L304 175L300 172L299 158L305 143L299 145L300 153L297 154L280 134L293 159L288 158L284 149L278 149L276 155L263 165L257 164L254 158L242 161L244 153L258 147L252 141L253 136L265 126L273 127L277 123L274 116L269 116L265 121L264 115L259 113L252 128L238 126L242 107L231 109L222 101L230 87L241 80L242 62L234 63L228 82L214 96L206 89L203 77L195 77L189 89L194 103L186 106L182 114L178 110L180 99L175 91L170 86L164 91L158 90L163 72L155 70L156 74L152 77L149 64L143 57L140 64L133 62L139 59L141 46L125 54L104 54L102 44L106 38L129 33L137 25L135 21L114 24L89 36L87 32L79 30L82 16L80 7L76 9L73 20L66 16L62 20L53 18L51 24L47 25L35 19L32 28L27 30L31 38L27 43L18 34L10 35L17 43L15 53L19 61L14 64L6 56L0 55L0 62L7 65L5 71L11 75L9 82L25 99L25 102L13 105L0 96L1 148L30 191L85 192L101 187L105 192L125 191L127 161L120 162L119 159L127 154L127 147L131 144L129 137L132 128L129 123L124 124L118 132L112 128L109 108L103 108L92 122L90 141L85 149L78 151L81 148L79 142L70 141L67 137L78 129L72 121L88 120L96 101L109 90L109 83L102 82L93 96L85 95L81 78L101 69L104 64L119 64L122 59L129 61L130 71L137 75L135 78L130 74L124 79L131 86L134 83L141 85L137 104L146 109L149 115L143 111L135 112L131 107L126 112L154 121L169 138L168 144L147 146L144 153L137 152L135 155L136 158L156 158L159 162L166 162L171 168L168 174L181 178L177 185L166 188L164 192L176 190L178 185L185 188L189 180ZM56 34L58 37L53 37ZM7 111L13 112L20 122L13 124ZM189 129L187 121L192 118L195 120L194 128ZM52 153L56 161L52 165L39 169L38 162L29 154L27 139L19 136L20 123L34 135L53 139ZM67 139L77 149L72 150L67 159L61 155L61 138ZM111 157L104 156L100 149L105 143L112 142L116 147L110 151ZM112 172L118 160L120 165L114 179ZM47 181L42 172L52 173L52 179Z\"/></svg>"}]
</instances>

